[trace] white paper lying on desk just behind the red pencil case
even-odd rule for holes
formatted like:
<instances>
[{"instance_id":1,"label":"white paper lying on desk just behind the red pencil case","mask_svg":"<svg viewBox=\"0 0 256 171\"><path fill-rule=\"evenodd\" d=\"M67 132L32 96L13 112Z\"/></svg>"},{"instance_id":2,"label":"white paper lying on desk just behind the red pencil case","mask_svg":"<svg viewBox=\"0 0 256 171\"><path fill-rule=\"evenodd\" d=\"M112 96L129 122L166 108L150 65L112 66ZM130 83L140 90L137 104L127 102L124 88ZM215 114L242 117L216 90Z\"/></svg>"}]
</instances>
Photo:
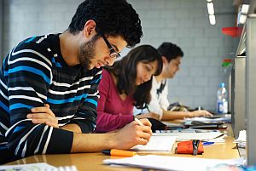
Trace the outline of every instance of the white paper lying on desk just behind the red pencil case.
<instances>
[{"instance_id":1,"label":"white paper lying on desk just behind the red pencil case","mask_svg":"<svg viewBox=\"0 0 256 171\"><path fill-rule=\"evenodd\" d=\"M224 133L220 132L209 132L209 133L153 133L153 135L158 136L166 136L166 135L172 135L177 136L177 141L183 141L183 140L213 140L216 139Z\"/></svg>"}]
</instances>

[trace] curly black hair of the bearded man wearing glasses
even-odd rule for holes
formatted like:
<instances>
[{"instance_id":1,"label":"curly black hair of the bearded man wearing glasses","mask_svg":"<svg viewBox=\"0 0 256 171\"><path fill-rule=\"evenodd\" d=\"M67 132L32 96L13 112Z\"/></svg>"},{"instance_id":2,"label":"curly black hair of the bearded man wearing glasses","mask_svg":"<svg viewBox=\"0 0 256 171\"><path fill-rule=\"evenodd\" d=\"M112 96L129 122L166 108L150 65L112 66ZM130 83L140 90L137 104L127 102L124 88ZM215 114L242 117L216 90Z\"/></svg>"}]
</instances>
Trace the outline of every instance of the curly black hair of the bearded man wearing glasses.
<instances>
[{"instance_id":1,"label":"curly black hair of the bearded man wearing glasses","mask_svg":"<svg viewBox=\"0 0 256 171\"><path fill-rule=\"evenodd\" d=\"M83 31L87 20L96 22L97 33L124 37L130 48L143 37L141 20L125 0L85 0L73 15L67 31L72 34Z\"/></svg>"}]
</instances>

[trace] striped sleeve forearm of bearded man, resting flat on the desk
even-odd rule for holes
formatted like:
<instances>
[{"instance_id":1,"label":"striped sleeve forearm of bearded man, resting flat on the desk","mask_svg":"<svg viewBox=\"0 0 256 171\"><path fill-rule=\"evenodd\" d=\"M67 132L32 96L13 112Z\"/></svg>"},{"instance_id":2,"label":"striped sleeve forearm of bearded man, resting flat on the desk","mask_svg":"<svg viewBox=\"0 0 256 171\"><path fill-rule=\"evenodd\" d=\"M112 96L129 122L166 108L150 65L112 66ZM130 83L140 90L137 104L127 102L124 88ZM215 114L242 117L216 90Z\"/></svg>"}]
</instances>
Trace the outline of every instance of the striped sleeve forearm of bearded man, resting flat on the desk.
<instances>
[{"instance_id":1,"label":"striped sleeve forearm of bearded man, resting flat on the desk","mask_svg":"<svg viewBox=\"0 0 256 171\"><path fill-rule=\"evenodd\" d=\"M13 125L5 135L9 150L13 151L16 157L69 153L73 144L73 132L46 124L33 124L29 119Z\"/></svg>"}]
</instances>

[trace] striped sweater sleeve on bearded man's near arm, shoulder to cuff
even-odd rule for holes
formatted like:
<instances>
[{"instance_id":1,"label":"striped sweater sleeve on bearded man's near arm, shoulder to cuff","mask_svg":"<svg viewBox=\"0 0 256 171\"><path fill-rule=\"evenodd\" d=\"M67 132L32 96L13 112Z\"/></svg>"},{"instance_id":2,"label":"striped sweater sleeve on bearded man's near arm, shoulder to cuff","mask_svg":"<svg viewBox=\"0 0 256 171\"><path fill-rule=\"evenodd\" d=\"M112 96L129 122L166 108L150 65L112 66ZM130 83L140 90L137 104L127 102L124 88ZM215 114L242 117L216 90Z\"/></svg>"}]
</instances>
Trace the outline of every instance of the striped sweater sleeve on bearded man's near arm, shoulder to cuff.
<instances>
[{"instance_id":1,"label":"striped sweater sleeve on bearded man's near arm, shoulder to cuff","mask_svg":"<svg viewBox=\"0 0 256 171\"><path fill-rule=\"evenodd\" d=\"M46 48L45 48L46 49ZM36 43L21 43L5 60L4 77L9 94L10 128L5 137L9 150L17 157L33 154L68 153L73 133L34 124L26 115L33 107L44 106L52 80L51 62L47 51Z\"/></svg>"}]
</instances>

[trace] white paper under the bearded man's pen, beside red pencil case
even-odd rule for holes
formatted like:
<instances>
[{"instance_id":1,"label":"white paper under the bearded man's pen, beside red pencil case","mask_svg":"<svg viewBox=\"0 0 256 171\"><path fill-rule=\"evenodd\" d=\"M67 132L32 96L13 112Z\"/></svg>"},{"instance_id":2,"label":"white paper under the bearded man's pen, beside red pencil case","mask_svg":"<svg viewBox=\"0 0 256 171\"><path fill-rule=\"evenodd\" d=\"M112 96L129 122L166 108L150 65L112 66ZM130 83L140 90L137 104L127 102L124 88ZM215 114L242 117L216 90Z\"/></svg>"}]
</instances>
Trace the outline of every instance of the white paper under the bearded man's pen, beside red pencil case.
<instances>
[{"instance_id":1,"label":"white paper under the bearded man's pen, beside red pencil case","mask_svg":"<svg viewBox=\"0 0 256 171\"><path fill-rule=\"evenodd\" d=\"M131 150L138 152L170 152L175 141L176 136L151 136L147 145L136 145Z\"/></svg>"}]
</instances>

